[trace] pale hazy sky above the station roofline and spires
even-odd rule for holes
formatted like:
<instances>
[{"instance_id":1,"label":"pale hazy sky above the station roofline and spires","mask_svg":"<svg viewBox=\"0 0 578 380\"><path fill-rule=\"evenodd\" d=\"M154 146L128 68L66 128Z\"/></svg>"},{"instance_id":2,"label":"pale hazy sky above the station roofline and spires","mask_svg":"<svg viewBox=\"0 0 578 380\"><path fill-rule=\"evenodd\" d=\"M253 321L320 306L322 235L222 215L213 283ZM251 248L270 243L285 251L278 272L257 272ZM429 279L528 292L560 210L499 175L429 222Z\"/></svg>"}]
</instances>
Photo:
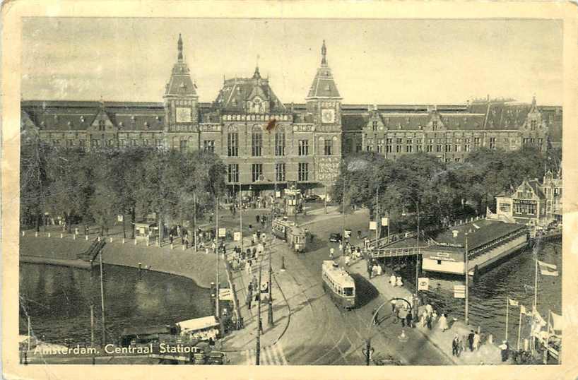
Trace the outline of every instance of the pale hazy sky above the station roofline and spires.
<instances>
[{"instance_id":1,"label":"pale hazy sky above the station roofline and spires","mask_svg":"<svg viewBox=\"0 0 578 380\"><path fill-rule=\"evenodd\" d=\"M562 105L559 20L25 18L22 98L161 102L179 33L201 102L257 61L281 101L305 102L326 40L346 104Z\"/></svg>"}]
</instances>

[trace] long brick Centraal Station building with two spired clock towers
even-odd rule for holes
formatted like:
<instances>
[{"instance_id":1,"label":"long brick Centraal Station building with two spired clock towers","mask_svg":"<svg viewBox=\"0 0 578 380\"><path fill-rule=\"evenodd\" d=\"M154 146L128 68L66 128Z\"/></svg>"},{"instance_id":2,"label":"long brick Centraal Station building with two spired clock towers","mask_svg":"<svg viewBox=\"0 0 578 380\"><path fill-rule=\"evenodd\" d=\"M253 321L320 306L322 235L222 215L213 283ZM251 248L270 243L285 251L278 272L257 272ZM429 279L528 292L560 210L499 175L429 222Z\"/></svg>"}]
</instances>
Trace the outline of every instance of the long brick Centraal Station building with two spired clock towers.
<instances>
[{"instance_id":1,"label":"long brick Centraal Station building with two spired clock towers","mask_svg":"<svg viewBox=\"0 0 578 380\"><path fill-rule=\"evenodd\" d=\"M437 107L342 100L323 43L305 103L283 103L258 67L249 78L226 79L214 102L199 102L179 36L163 102L23 100L21 124L28 136L61 148L211 150L228 168L231 194L241 188L255 195L289 183L324 194L343 156L365 150L392 160L425 152L461 162L481 146L545 150L561 141L561 107L538 107L536 100L488 97Z\"/></svg>"}]
</instances>

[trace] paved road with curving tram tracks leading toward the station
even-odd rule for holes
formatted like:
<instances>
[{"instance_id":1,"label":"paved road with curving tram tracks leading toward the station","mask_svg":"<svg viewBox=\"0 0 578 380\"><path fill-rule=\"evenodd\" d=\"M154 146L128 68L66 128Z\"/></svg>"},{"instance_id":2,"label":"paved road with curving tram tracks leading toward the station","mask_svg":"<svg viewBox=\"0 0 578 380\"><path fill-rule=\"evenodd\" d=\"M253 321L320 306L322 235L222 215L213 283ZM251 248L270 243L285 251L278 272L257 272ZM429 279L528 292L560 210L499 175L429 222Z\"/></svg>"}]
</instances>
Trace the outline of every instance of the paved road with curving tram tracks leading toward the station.
<instances>
[{"instance_id":1,"label":"paved road with curving tram tracks leading toward the station","mask_svg":"<svg viewBox=\"0 0 578 380\"><path fill-rule=\"evenodd\" d=\"M367 214L347 215L346 220L347 227L353 231L362 230L367 225ZM285 364L283 361L286 361L293 365L362 365L365 364L362 349L365 348L367 336L372 337L375 357L392 355L404 364L414 365L451 364L418 331L406 329L408 339L400 341L398 336L401 335L401 326L387 318L391 311L389 307L382 309L387 311L381 313L382 323L377 328L368 329L372 310L387 300L379 297L379 292L361 276L355 277L360 304L356 309L339 309L324 294L321 266L322 261L329 257L327 237L330 232L341 230L341 222L342 218L337 217L310 225L309 230L316 234L316 240L314 250L307 254L296 256L285 244L280 244L276 249L276 255L283 254L286 261L290 262L290 270L283 275L293 276L298 287L293 291L294 297L300 297L300 301L290 299L290 304L293 304L290 328L277 343L278 347L274 345L271 348L277 355L281 348L283 360L264 364ZM307 320L301 321L300 314L305 313Z\"/></svg>"}]
</instances>

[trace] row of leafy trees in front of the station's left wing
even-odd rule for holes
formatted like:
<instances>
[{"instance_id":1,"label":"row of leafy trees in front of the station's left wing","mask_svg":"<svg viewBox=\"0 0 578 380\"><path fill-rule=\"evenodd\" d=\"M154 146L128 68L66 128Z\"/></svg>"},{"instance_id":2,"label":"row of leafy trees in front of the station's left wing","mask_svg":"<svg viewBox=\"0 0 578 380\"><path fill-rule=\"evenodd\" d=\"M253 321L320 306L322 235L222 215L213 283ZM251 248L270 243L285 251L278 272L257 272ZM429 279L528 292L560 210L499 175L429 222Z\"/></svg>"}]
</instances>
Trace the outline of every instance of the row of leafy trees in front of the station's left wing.
<instances>
[{"instance_id":1,"label":"row of leafy trees in front of the station's left wing","mask_svg":"<svg viewBox=\"0 0 578 380\"><path fill-rule=\"evenodd\" d=\"M135 222L155 213L159 225L173 225L213 210L225 192L225 173L220 158L202 150L83 152L33 141L21 147L20 220L38 230L48 214L62 218L69 232L73 224L92 222L107 232L123 215L126 237L125 216Z\"/></svg>"}]
</instances>

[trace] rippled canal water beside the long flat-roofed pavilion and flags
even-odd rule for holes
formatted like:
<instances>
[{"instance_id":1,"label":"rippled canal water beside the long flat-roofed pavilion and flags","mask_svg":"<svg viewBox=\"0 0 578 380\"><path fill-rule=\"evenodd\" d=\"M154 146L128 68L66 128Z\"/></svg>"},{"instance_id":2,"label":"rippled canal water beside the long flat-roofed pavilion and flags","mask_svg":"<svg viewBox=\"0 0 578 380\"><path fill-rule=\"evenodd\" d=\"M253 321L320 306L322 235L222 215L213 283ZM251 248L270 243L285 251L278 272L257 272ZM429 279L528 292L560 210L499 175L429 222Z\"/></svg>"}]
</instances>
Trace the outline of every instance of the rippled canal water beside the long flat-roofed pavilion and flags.
<instances>
[{"instance_id":1,"label":"rippled canal water beside the long flat-roofed pavilion and flags","mask_svg":"<svg viewBox=\"0 0 578 380\"><path fill-rule=\"evenodd\" d=\"M562 244L541 244L538 260L558 266L558 277L543 276L538 272L538 311L548 321L548 311L562 311ZM496 339L504 339L506 331L506 298L517 300L531 311L535 261L531 249L524 249L507 261L480 275L477 283L470 283L469 319L473 326L491 333ZM406 283L415 283L415 265L403 270ZM424 273L430 278L430 289L420 292L437 310L448 313L449 318L464 320L465 301L454 298L454 285L463 285L464 278L439 273ZM413 286L413 285L411 285ZM508 340L516 344L519 326L519 307L509 307ZM529 321L522 318L521 338L529 336Z\"/></svg>"}]
</instances>

